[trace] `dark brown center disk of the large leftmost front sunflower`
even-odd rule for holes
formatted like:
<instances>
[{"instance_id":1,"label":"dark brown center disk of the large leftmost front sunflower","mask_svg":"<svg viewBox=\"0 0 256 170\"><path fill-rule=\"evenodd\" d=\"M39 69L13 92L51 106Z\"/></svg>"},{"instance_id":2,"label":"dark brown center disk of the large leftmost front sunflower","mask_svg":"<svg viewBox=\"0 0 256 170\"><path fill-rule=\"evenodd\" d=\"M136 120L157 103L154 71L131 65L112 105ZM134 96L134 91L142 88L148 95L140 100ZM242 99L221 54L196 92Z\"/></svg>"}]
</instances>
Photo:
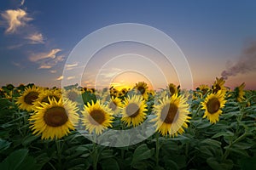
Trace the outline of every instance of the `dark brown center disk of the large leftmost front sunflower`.
<instances>
[{"instance_id":1,"label":"dark brown center disk of the large leftmost front sunflower","mask_svg":"<svg viewBox=\"0 0 256 170\"><path fill-rule=\"evenodd\" d=\"M44 122L50 127L60 127L68 120L66 110L63 107L52 107L44 113Z\"/></svg>"}]
</instances>

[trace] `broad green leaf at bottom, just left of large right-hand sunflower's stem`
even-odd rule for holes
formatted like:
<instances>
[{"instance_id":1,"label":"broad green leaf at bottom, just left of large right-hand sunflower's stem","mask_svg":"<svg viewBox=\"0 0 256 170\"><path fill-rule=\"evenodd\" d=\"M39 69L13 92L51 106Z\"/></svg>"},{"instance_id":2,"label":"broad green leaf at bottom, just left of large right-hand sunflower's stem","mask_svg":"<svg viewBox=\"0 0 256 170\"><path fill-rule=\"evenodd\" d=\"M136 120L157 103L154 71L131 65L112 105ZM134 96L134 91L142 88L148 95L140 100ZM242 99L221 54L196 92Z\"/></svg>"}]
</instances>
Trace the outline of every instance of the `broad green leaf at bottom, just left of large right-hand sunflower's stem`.
<instances>
[{"instance_id":1,"label":"broad green leaf at bottom, just left of large right-hand sunflower's stem","mask_svg":"<svg viewBox=\"0 0 256 170\"><path fill-rule=\"evenodd\" d=\"M138 161L143 161L153 155L153 150L149 150L147 144L141 144L134 150L131 165L137 164Z\"/></svg>"}]
</instances>

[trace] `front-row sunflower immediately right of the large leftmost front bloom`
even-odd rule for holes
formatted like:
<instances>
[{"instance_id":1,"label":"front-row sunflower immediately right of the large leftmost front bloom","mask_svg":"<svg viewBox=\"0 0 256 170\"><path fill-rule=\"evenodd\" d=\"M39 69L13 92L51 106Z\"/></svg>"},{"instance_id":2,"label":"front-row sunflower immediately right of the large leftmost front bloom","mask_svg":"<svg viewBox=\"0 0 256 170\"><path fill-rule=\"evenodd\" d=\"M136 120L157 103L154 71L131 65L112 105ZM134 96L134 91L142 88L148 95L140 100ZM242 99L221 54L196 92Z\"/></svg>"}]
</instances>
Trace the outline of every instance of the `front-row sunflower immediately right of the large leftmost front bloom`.
<instances>
[{"instance_id":1,"label":"front-row sunflower immediately right of the large leftmost front bloom","mask_svg":"<svg viewBox=\"0 0 256 170\"><path fill-rule=\"evenodd\" d=\"M82 111L84 115L82 122L89 133L95 131L96 134L101 134L104 129L112 127L113 112L107 105L100 104L99 100L95 104L92 101L91 105L90 103L87 103L87 105L84 105L84 111Z\"/></svg>"}]
</instances>

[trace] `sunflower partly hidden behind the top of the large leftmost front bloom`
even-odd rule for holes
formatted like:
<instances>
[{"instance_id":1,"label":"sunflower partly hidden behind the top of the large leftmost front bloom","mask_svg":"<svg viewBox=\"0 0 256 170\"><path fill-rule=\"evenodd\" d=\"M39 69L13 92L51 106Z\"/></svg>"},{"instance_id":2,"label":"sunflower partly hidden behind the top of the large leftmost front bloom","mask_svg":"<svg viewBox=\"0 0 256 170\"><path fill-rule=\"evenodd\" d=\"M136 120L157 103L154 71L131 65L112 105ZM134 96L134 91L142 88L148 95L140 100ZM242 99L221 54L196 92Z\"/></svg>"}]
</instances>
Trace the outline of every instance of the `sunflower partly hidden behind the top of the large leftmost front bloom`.
<instances>
[{"instance_id":1,"label":"sunflower partly hidden behind the top of the large leftmost front bloom","mask_svg":"<svg viewBox=\"0 0 256 170\"><path fill-rule=\"evenodd\" d=\"M34 107L40 106L40 103L48 103L49 99L55 98L57 101L61 99L61 93L57 90L43 90L41 94L38 95L38 99L34 102Z\"/></svg>"}]
</instances>

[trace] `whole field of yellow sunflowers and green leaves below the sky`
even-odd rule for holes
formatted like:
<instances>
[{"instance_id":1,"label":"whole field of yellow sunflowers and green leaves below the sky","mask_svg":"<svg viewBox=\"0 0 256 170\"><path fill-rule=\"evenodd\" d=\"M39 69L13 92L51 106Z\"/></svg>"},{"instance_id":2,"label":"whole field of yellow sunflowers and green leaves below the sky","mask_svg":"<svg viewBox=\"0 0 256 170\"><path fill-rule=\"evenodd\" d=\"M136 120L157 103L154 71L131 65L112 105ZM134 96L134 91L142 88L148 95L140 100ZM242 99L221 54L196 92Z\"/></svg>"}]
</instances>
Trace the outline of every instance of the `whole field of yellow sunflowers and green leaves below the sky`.
<instances>
[{"instance_id":1,"label":"whole field of yellow sunflowers and green leaves below the sky","mask_svg":"<svg viewBox=\"0 0 256 170\"><path fill-rule=\"evenodd\" d=\"M145 82L101 90L8 84L0 88L0 168L256 169L256 91L224 83L158 91ZM106 133L136 128L143 133ZM127 144L114 147L119 140Z\"/></svg>"}]
</instances>

